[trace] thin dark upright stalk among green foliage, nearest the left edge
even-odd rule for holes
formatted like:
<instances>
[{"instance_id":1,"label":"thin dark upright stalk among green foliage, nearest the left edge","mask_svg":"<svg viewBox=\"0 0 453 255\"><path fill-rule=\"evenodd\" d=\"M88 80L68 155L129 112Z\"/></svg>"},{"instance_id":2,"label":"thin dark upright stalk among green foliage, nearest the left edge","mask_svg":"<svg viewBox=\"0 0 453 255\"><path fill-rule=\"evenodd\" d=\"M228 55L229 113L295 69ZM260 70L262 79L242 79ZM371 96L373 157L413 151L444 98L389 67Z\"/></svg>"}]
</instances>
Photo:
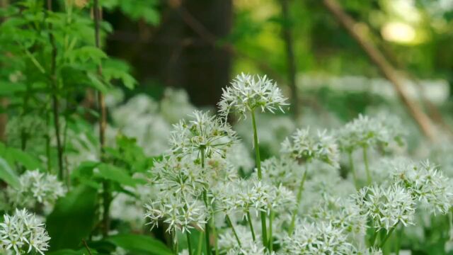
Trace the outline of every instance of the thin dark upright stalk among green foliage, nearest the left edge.
<instances>
[{"instance_id":1,"label":"thin dark upright stalk among green foliage, nearest the left edge","mask_svg":"<svg viewBox=\"0 0 453 255\"><path fill-rule=\"evenodd\" d=\"M52 11L52 0L47 0L47 10ZM59 130L59 99L58 99L58 84L57 84L57 45L55 37L52 33L52 24L49 24L49 40L52 47L52 55L50 56L50 88L52 89L52 113L55 126L55 137L57 138L57 156L58 156L58 179L64 179L63 168L63 147Z\"/></svg>"}]
</instances>

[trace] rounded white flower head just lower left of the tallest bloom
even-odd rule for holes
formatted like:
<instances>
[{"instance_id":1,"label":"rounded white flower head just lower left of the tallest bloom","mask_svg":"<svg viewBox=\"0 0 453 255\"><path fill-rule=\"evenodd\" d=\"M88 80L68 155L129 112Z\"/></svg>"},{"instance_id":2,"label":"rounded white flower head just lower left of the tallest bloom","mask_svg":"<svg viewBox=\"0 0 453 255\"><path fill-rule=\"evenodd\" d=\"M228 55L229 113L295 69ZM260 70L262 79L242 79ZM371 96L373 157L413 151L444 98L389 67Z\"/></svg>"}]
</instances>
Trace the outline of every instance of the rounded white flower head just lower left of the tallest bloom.
<instances>
[{"instance_id":1,"label":"rounded white flower head just lower left of the tallest bloom","mask_svg":"<svg viewBox=\"0 0 453 255\"><path fill-rule=\"evenodd\" d=\"M208 112L194 111L192 120L180 120L173 128L170 146L173 154L178 156L195 154L200 159L218 154L225 157L226 150L237 141L236 132L228 123Z\"/></svg>"}]
</instances>

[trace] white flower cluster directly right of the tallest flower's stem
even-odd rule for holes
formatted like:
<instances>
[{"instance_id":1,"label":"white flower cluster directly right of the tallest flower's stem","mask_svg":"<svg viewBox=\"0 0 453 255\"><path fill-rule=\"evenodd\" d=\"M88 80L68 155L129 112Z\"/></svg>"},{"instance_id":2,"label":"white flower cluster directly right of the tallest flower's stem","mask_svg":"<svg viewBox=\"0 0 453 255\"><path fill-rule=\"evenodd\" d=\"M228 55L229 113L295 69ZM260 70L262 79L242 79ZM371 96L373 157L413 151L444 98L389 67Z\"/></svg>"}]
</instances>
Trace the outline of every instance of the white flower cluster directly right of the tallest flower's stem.
<instances>
[{"instance_id":1,"label":"white flower cluster directly right of the tallest flower's stem","mask_svg":"<svg viewBox=\"0 0 453 255\"><path fill-rule=\"evenodd\" d=\"M327 130L318 130L315 137L309 128L298 129L291 138L292 142L288 138L282 142L281 152L283 154L306 162L318 159L336 168L340 166L338 164L340 158L338 145L335 138L327 134Z\"/></svg>"}]
</instances>

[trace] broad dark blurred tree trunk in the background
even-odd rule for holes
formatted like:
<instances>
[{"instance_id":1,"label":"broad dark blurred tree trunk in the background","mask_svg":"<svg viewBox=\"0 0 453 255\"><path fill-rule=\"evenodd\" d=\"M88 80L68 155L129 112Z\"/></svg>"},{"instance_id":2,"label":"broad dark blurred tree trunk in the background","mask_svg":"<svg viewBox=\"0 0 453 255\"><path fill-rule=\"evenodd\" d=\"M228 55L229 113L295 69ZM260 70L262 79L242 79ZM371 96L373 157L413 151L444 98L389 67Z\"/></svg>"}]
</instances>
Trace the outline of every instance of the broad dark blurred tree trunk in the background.
<instances>
[{"instance_id":1,"label":"broad dark blurred tree trunk in the background","mask_svg":"<svg viewBox=\"0 0 453 255\"><path fill-rule=\"evenodd\" d=\"M229 34L231 0L173 0L162 10L157 28L137 25L118 13L106 15L117 30L108 38L108 53L130 62L140 83L181 87L195 105L214 106L229 82L231 55L188 26L181 8L215 38Z\"/></svg>"}]
</instances>

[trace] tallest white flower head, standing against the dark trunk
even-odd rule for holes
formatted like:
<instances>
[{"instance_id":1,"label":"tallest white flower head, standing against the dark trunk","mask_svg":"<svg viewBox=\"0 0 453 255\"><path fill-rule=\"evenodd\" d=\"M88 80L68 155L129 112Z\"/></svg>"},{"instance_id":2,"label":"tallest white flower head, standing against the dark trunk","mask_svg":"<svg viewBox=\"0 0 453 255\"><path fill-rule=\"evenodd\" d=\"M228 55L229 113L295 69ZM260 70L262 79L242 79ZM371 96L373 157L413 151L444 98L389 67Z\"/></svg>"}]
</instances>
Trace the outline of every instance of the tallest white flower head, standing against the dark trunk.
<instances>
[{"instance_id":1,"label":"tallest white flower head, standing against the dark trunk","mask_svg":"<svg viewBox=\"0 0 453 255\"><path fill-rule=\"evenodd\" d=\"M239 74L231 82L231 86L223 89L222 99L219 102L220 114L226 118L230 112L237 112L246 117L247 112L261 108L261 111L283 111L282 106L287 106L287 98L277 84L268 77L250 74Z\"/></svg>"}]
</instances>

